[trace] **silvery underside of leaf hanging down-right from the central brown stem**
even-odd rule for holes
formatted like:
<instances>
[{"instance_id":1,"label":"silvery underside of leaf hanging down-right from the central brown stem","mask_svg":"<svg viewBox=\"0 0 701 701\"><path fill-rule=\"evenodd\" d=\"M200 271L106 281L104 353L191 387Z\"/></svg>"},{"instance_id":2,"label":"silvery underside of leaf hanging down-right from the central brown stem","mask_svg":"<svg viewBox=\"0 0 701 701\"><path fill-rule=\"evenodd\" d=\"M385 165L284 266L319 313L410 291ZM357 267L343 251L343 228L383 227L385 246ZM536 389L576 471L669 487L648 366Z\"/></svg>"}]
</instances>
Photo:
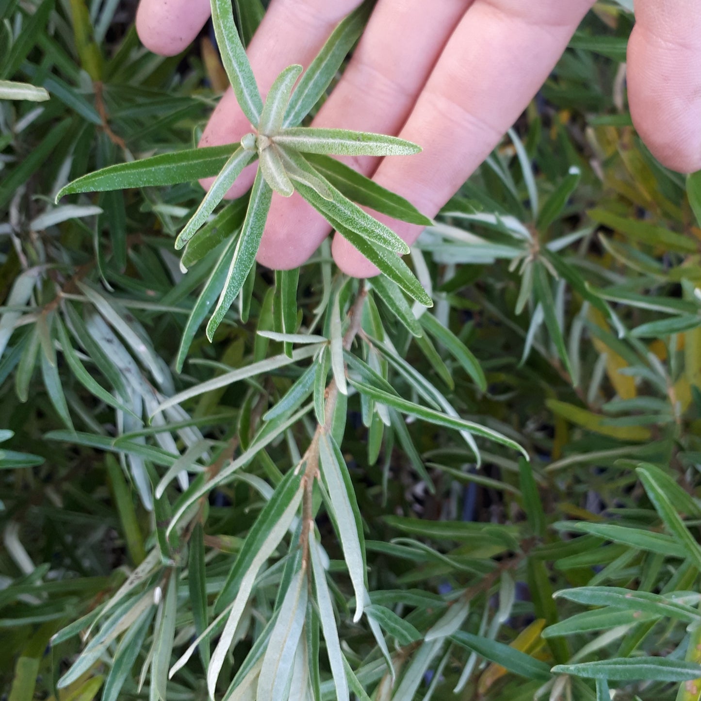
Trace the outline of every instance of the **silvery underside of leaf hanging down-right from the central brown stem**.
<instances>
[{"instance_id":1,"label":"silvery underside of leaf hanging down-right from the central brown stem","mask_svg":"<svg viewBox=\"0 0 701 701\"><path fill-rule=\"evenodd\" d=\"M326 433L322 433L319 438L319 457L321 474L329 491L336 524L339 526L343 557L346 559L348 573L351 576L351 583L355 592L355 615L353 620L358 622L365 605L365 562L351 498L348 495L346 482L341 474L342 468L339 465L336 451L334 451ZM353 495L353 498L355 499L355 495Z\"/></svg>"}]
</instances>

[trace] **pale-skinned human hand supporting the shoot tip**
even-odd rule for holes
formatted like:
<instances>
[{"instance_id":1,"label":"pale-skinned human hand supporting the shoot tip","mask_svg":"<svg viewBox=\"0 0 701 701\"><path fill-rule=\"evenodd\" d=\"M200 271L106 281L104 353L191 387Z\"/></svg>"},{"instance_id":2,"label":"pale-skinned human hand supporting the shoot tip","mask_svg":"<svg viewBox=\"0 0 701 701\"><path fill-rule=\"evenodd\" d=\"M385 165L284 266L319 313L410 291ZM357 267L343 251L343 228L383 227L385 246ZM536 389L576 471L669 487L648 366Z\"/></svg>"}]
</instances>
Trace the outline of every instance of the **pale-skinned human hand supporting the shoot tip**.
<instances>
[{"instance_id":1,"label":"pale-skinned human hand supporting the shoot tip","mask_svg":"<svg viewBox=\"0 0 701 701\"><path fill-rule=\"evenodd\" d=\"M361 0L271 0L248 47L261 93L293 63L308 66L336 24ZM314 124L397 135L418 156L346 162L434 217L500 142L547 79L593 0L378 0L365 34ZM163 55L182 51L209 18L210 0L141 0L137 30ZM680 172L701 170L701 0L637 0L627 81L634 124L653 154ZM200 142L236 142L251 125L227 90ZM229 196L252 184L247 168ZM203 185L207 186L204 182ZM421 228L380 217L407 243ZM297 267L328 236L297 194L273 196L258 254L271 268ZM377 269L343 237L339 268Z\"/></svg>"}]
</instances>

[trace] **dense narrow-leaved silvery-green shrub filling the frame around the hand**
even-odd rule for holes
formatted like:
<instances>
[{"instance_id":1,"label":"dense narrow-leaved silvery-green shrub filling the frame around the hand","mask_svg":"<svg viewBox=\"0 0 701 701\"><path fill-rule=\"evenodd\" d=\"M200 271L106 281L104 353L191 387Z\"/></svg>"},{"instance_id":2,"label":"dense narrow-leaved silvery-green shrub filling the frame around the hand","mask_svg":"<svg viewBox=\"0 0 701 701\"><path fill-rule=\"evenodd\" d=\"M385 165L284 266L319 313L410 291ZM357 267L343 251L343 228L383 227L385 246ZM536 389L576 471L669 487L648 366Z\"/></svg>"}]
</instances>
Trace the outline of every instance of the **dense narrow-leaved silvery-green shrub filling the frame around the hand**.
<instances>
[{"instance_id":1,"label":"dense narrow-leaved silvery-green shrub filling the frame around the hand","mask_svg":"<svg viewBox=\"0 0 701 701\"><path fill-rule=\"evenodd\" d=\"M698 701L701 175L632 4L435 220L332 157L419 146L307 126L372 2L265 102L259 0L172 59L129 7L0 2L4 697ZM254 129L189 148L223 76ZM257 268L294 191L381 274Z\"/></svg>"}]
</instances>

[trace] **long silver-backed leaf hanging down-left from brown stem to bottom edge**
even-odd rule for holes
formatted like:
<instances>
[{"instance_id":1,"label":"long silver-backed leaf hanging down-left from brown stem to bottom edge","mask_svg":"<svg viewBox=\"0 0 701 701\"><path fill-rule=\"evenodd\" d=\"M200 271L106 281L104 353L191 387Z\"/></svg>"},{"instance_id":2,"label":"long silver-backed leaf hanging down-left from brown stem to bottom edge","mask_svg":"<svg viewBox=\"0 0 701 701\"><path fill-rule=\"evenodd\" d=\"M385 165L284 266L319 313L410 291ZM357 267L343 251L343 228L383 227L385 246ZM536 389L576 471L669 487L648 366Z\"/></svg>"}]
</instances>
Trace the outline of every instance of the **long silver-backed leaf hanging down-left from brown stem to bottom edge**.
<instances>
[{"instance_id":1,"label":"long silver-backed leaf hanging down-left from brown stem to bottom edge","mask_svg":"<svg viewBox=\"0 0 701 701\"><path fill-rule=\"evenodd\" d=\"M283 486L283 483L280 484ZM280 489L278 486L278 489ZM266 532L266 537L262 540L260 545L257 547L249 547L250 562L247 562L247 568L245 572L242 573L243 576L240 578L240 583L238 585L238 593L236 598L233 600L231 606L231 612L229 613L229 618L226 620L226 625L224 626L224 631L222 636L219 638L217 647L214 653L212 653L212 660L210 662L210 667L207 669L207 690L210 693L210 697L214 696L215 687L217 685L217 679L219 679L219 672L222 671L222 665L224 665L224 659L226 655L229 654L229 648L233 641L234 634L236 633L236 628L238 627L238 622L241 618L243 610L248 602L253 585L258 576L258 572L266 562L268 557L273 554L276 547L283 539L288 527L292 523L299 504L301 503L302 491L304 486L301 484L301 475L290 475L287 482L284 483L285 488L287 486L292 486L294 488L294 494L289 503L284 505L284 510L280 513L278 509L271 508L269 510L264 510L261 512L261 516L258 519L257 525L259 525L261 532ZM284 490L287 494L287 489ZM270 505L273 503L268 503ZM281 505L283 505L281 503ZM264 522L261 522L264 521ZM249 538L251 535L249 534ZM247 538L246 540L249 540ZM244 545L244 550L246 548Z\"/></svg>"}]
</instances>

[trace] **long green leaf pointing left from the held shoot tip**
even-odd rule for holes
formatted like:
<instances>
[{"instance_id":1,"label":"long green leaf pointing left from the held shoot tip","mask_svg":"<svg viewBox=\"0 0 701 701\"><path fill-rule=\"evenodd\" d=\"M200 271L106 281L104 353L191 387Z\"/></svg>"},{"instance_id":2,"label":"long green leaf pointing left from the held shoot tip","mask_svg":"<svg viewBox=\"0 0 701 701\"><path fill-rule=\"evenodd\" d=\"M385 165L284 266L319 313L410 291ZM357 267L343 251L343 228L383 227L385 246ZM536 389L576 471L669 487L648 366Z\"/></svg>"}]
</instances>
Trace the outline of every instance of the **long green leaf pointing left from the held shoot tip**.
<instances>
[{"instance_id":1,"label":"long green leaf pointing left from the held shoot tip","mask_svg":"<svg viewBox=\"0 0 701 701\"><path fill-rule=\"evenodd\" d=\"M88 173L69 182L56 196L58 202L64 195L79 192L104 192L130 187L155 187L192 182L219 173L239 144L187 149L173 154L161 154L142 158L131 163L117 163L102 170Z\"/></svg>"}]
</instances>

